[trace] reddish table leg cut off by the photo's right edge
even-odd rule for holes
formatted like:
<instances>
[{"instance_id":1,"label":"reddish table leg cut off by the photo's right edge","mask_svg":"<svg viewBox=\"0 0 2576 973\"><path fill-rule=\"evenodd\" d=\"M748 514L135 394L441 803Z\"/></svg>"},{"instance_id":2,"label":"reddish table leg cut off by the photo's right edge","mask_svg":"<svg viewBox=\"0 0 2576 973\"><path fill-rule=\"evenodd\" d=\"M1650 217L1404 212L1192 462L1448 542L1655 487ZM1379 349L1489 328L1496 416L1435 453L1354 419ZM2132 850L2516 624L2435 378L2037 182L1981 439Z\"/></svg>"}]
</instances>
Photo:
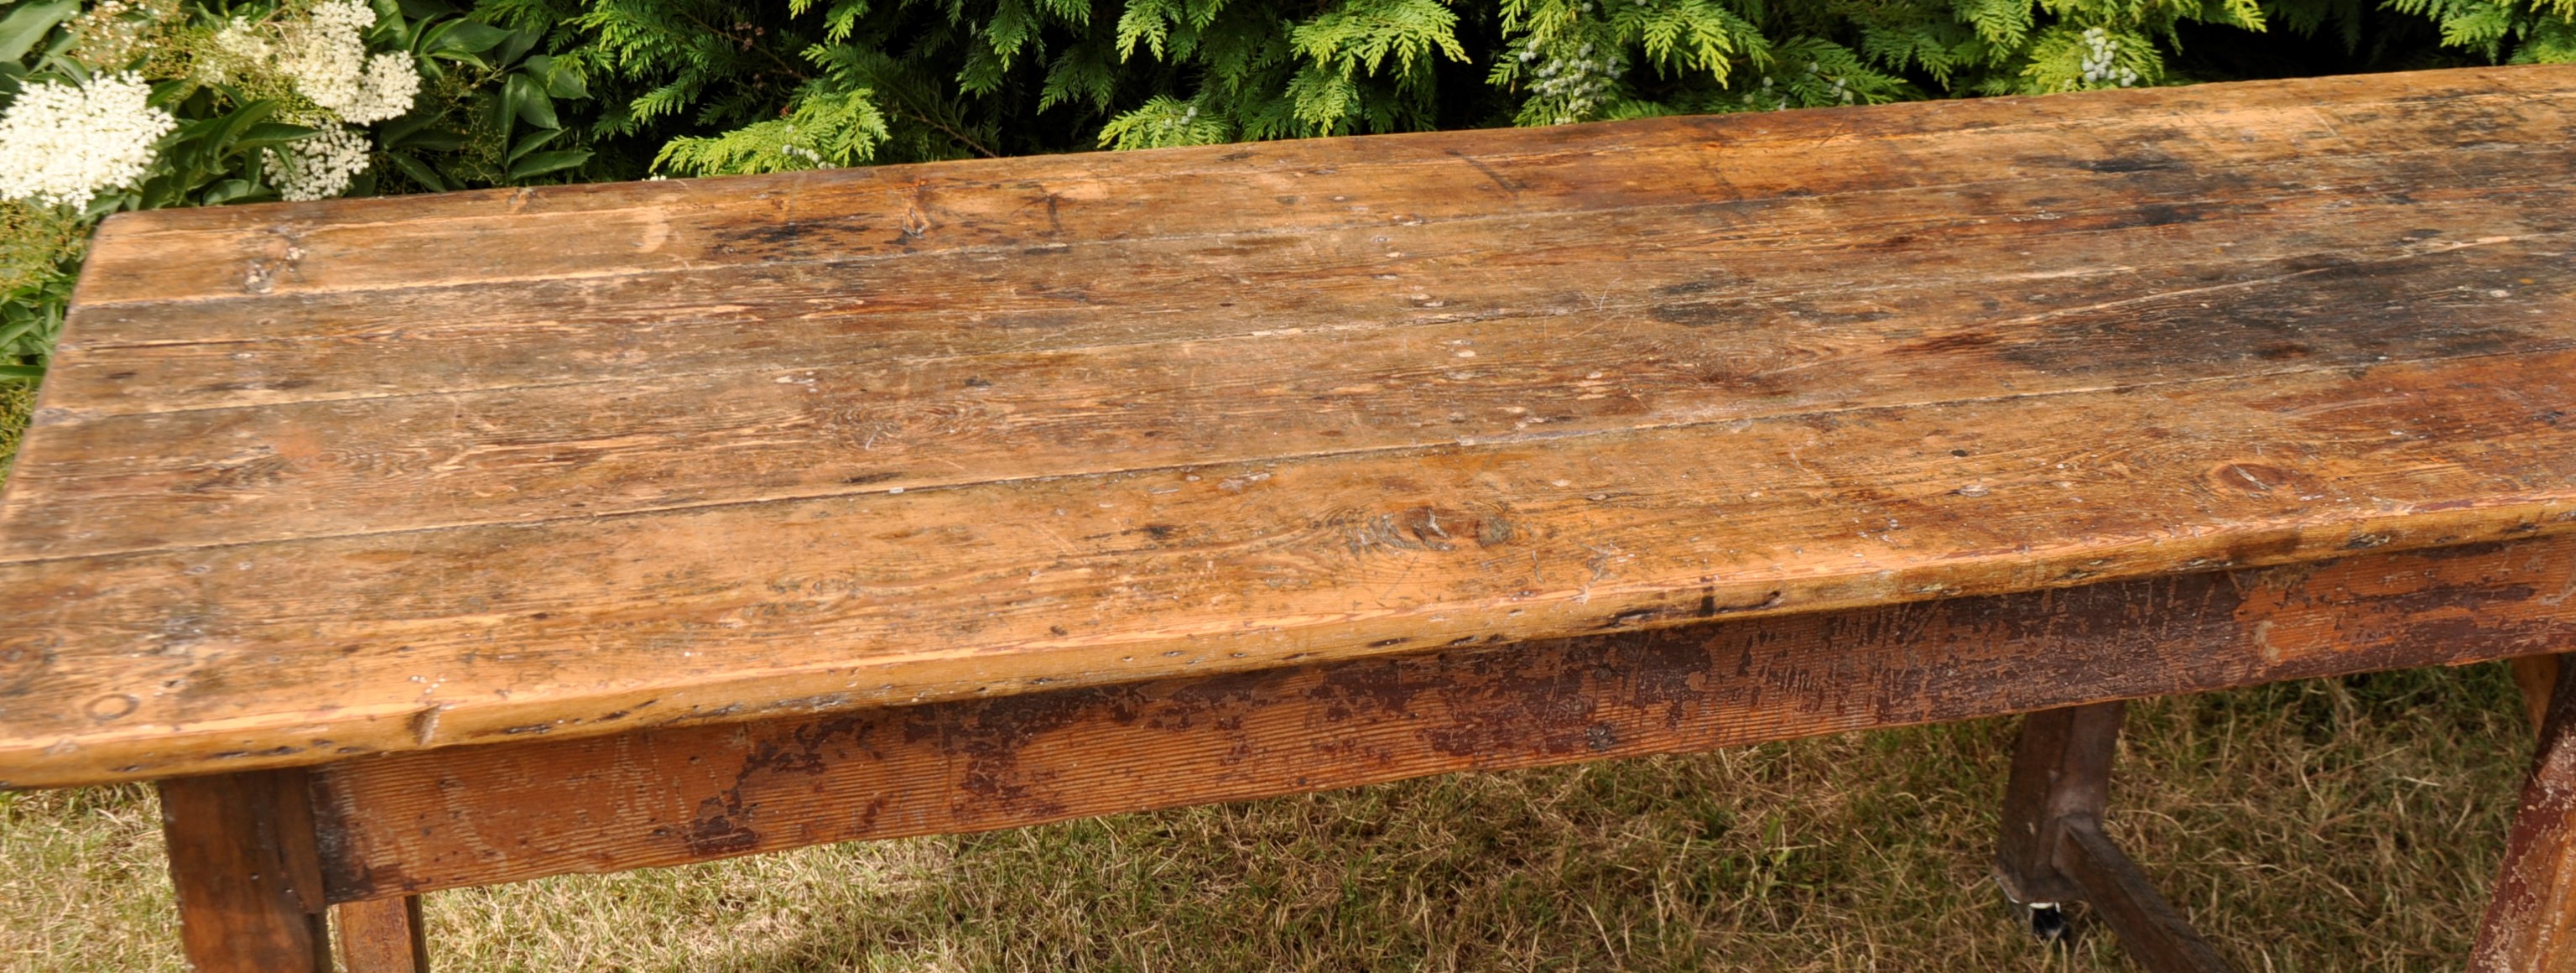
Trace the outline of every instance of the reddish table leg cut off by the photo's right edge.
<instances>
[{"instance_id":1,"label":"reddish table leg cut off by the photo's right edge","mask_svg":"<svg viewBox=\"0 0 2576 973\"><path fill-rule=\"evenodd\" d=\"M2540 746L2470 970L2576 970L2576 667L2553 656L2550 682L2532 680L2540 669L2514 659L2524 700L2543 700Z\"/></svg>"}]
</instances>

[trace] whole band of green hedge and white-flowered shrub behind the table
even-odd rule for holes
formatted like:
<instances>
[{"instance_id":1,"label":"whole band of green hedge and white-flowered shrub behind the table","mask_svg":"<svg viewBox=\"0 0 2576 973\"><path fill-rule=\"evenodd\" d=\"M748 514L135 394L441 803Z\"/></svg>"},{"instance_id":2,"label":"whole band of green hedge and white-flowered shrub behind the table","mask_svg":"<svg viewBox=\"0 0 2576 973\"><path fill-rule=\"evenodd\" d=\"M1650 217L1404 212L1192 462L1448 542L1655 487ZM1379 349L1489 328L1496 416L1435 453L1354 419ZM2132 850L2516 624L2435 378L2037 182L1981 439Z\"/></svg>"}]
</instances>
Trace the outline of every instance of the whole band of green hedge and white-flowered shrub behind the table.
<instances>
[{"instance_id":1,"label":"whole band of green hedge and white-flowered shrub behind the table","mask_svg":"<svg viewBox=\"0 0 2576 973\"><path fill-rule=\"evenodd\" d=\"M121 208L2532 59L2576 0L0 0L0 378Z\"/></svg>"}]
</instances>

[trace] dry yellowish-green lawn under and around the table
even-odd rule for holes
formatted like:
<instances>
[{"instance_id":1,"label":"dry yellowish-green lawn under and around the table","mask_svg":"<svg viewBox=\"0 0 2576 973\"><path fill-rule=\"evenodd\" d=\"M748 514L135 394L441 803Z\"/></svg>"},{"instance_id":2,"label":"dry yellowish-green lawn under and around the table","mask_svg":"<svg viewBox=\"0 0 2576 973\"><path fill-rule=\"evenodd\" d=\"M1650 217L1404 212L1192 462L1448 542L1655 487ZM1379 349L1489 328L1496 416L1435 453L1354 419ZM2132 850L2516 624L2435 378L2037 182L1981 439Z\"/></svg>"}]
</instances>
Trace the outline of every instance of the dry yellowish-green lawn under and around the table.
<instances>
[{"instance_id":1,"label":"dry yellowish-green lawn under and around the table","mask_svg":"<svg viewBox=\"0 0 2576 973\"><path fill-rule=\"evenodd\" d=\"M0 391L0 456L31 396ZM428 898L440 970L2128 970L1986 855L2017 721L1453 775ZM2501 664L2130 708L2112 834L2241 970L2458 965ZM180 970L149 788L0 793L0 968Z\"/></svg>"}]
</instances>

